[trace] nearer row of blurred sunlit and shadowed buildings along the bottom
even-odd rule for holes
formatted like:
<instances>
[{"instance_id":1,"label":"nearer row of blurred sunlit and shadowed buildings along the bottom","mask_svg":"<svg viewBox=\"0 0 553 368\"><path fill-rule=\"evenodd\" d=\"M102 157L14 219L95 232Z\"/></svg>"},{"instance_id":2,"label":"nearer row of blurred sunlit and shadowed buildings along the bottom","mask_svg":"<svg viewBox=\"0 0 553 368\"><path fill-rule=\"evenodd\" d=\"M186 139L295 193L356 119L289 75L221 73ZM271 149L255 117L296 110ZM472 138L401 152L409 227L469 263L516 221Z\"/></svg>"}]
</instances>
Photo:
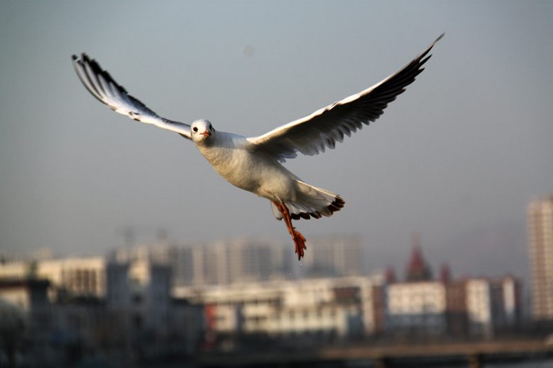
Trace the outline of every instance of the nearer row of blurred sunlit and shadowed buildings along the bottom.
<instances>
[{"instance_id":1,"label":"nearer row of blurred sunlit and shadowed buildings along the bottom","mask_svg":"<svg viewBox=\"0 0 553 368\"><path fill-rule=\"evenodd\" d=\"M478 343L530 327L521 319L521 284L509 275L453 282L350 275L177 287L171 267L144 260L44 261L32 275L11 272L0 280L3 316L10 316L1 327L14 341L33 341L32 354L23 351L19 361L37 366L71 365L86 360L84 351L122 365L167 356L194 360L205 351L241 355L244 347L290 351L298 342L300 349L374 338L385 345L409 338L421 346L421 338L432 344L439 337ZM15 323L19 330L10 329ZM538 339L534 345L547 350ZM22 351L14 347L3 346L8 361Z\"/></svg>"}]
</instances>

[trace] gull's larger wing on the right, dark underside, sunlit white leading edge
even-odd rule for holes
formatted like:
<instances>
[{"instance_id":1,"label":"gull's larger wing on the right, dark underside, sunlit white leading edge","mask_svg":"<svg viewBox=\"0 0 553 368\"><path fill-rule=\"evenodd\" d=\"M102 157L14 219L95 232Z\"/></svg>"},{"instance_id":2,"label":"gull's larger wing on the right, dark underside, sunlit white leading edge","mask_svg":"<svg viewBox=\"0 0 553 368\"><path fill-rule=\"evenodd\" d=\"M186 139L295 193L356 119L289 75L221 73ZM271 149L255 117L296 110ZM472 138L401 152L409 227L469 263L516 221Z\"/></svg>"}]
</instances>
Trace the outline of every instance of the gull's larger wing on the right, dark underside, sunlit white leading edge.
<instances>
[{"instance_id":1,"label":"gull's larger wing on the right, dark underside, sunlit white leading edge","mask_svg":"<svg viewBox=\"0 0 553 368\"><path fill-rule=\"evenodd\" d=\"M378 119L384 108L415 81L415 77L424 70L422 66L431 57L426 57L427 54L443 36L401 70L371 88L279 126L265 135L247 138L250 151L262 150L284 162L285 159L297 157L298 151L311 156L324 152L326 147L335 148L336 142L344 140L344 135L349 137L363 124L368 125Z\"/></svg>"}]
</instances>

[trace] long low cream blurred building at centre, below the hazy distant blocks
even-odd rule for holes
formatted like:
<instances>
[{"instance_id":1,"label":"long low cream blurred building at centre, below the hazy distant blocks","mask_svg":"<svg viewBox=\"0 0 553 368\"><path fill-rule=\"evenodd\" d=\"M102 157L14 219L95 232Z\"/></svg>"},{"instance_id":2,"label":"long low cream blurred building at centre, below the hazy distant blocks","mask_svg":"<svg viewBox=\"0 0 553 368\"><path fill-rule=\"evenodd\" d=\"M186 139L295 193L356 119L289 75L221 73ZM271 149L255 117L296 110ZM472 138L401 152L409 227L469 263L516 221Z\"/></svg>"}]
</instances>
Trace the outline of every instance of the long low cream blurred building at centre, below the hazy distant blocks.
<instances>
[{"instance_id":1,"label":"long low cream blurred building at centre, below the hazy distant blocks","mask_svg":"<svg viewBox=\"0 0 553 368\"><path fill-rule=\"evenodd\" d=\"M208 329L223 336L254 334L309 340L382 332L383 276L278 280L182 287L176 295L207 308Z\"/></svg>"}]
</instances>

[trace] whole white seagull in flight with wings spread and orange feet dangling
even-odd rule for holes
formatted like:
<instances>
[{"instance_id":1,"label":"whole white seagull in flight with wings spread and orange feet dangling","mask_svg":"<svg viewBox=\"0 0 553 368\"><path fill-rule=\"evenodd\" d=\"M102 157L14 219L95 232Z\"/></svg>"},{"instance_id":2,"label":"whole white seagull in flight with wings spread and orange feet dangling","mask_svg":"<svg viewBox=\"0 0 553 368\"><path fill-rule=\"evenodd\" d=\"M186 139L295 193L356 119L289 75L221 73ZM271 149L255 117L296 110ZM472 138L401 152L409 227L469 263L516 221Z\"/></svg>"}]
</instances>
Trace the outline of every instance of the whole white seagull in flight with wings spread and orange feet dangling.
<instances>
[{"instance_id":1,"label":"whole white seagull in flight with wings spread and orange feet dangling","mask_svg":"<svg viewBox=\"0 0 553 368\"><path fill-rule=\"evenodd\" d=\"M245 191L267 198L277 220L284 220L296 246L298 260L306 249L306 238L292 226L292 220L330 217L346 202L337 194L303 182L282 164L286 159L317 155L335 148L363 124L370 124L384 113L384 108L404 92L406 86L424 70L436 39L413 61L390 77L356 95L346 97L311 115L271 130L259 137L242 137L215 130L209 120L198 119L191 125L160 117L129 95L109 72L82 53L72 56L73 66L82 84L100 102L116 113L138 122L172 130L191 140L209 164L227 182ZM428 55L428 56L427 56Z\"/></svg>"}]
</instances>

